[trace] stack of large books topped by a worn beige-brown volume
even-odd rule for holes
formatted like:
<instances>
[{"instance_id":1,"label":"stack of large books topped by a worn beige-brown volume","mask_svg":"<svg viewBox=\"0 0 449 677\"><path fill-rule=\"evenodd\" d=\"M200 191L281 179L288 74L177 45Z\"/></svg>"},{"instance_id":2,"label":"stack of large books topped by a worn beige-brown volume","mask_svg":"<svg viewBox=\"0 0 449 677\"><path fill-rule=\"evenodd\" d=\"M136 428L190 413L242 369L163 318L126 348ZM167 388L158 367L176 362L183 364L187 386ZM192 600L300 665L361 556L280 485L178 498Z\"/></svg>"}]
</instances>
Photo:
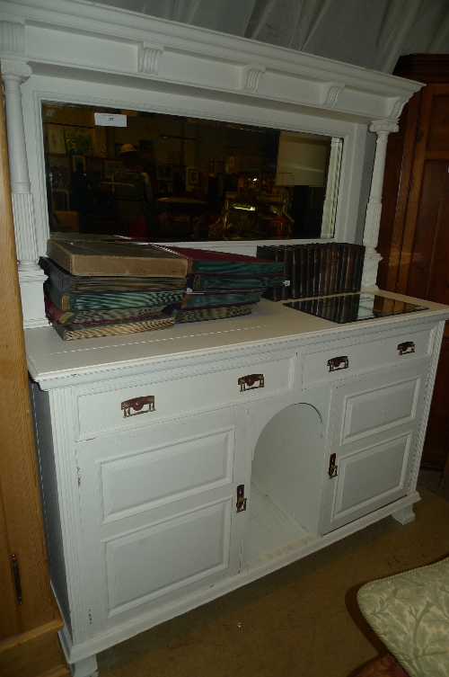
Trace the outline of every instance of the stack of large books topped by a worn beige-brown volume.
<instances>
[{"instance_id":1,"label":"stack of large books topped by a worn beige-brown volume","mask_svg":"<svg viewBox=\"0 0 449 677\"><path fill-rule=\"evenodd\" d=\"M48 240L40 266L48 275L48 320L68 341L163 329L163 308L185 290L182 257L151 245Z\"/></svg>"}]
</instances>

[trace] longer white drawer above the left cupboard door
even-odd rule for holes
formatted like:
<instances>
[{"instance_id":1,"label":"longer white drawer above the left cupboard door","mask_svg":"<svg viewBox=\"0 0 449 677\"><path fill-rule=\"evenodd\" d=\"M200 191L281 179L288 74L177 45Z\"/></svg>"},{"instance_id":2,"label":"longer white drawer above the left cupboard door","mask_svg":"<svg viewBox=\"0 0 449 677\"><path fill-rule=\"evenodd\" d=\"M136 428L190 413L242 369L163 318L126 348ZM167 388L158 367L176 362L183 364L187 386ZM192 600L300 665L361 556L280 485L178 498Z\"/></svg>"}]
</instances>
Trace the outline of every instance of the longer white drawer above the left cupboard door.
<instances>
[{"instance_id":1,"label":"longer white drawer above the left cupboard door","mask_svg":"<svg viewBox=\"0 0 449 677\"><path fill-rule=\"evenodd\" d=\"M219 361L207 369L167 370L126 386L120 379L101 390L77 392L76 439L287 394L294 387L295 357L282 351L260 361Z\"/></svg>"}]
</instances>

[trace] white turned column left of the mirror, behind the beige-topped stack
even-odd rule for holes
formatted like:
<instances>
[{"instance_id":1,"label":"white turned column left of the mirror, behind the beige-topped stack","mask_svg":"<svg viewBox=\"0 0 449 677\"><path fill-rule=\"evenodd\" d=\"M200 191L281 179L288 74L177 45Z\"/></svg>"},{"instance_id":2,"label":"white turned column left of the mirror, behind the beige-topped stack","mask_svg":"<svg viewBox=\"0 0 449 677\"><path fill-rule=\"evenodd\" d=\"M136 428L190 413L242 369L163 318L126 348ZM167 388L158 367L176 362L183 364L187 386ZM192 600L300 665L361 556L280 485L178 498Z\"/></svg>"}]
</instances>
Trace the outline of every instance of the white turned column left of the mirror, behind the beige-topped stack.
<instances>
[{"instance_id":1,"label":"white turned column left of the mirror, behind the beige-topped stack","mask_svg":"<svg viewBox=\"0 0 449 677\"><path fill-rule=\"evenodd\" d=\"M42 284L47 278L37 263L39 254L36 222L22 114L21 85L30 76L31 67L27 63L2 57L4 115L13 199L15 245L19 260L19 282L25 327L48 325L42 290Z\"/></svg>"}]
</instances>

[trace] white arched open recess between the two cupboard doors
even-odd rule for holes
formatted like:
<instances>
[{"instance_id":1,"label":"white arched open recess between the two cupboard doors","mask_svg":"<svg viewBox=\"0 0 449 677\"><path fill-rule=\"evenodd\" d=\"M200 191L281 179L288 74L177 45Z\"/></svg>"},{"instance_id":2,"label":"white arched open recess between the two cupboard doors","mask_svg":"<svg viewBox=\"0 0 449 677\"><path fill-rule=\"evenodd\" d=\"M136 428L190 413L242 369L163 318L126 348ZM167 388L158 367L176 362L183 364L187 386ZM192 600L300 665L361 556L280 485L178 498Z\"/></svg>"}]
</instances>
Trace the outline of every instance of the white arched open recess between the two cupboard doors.
<instances>
[{"instance_id":1,"label":"white arched open recess between the two cupboard doors","mask_svg":"<svg viewBox=\"0 0 449 677\"><path fill-rule=\"evenodd\" d=\"M251 466L250 568L318 536L325 447L310 404L284 407L261 430Z\"/></svg>"}]
</instances>

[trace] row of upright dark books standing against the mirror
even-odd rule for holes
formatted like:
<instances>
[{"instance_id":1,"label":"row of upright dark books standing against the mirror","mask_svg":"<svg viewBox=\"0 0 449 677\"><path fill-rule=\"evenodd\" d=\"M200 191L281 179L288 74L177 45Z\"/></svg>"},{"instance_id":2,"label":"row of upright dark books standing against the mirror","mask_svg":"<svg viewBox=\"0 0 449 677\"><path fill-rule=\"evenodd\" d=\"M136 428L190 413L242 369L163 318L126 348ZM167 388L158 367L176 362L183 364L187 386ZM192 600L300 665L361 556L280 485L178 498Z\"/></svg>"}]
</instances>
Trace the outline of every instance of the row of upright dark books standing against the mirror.
<instances>
[{"instance_id":1,"label":"row of upright dark books standing against the mirror","mask_svg":"<svg viewBox=\"0 0 449 677\"><path fill-rule=\"evenodd\" d=\"M284 264L286 285L267 290L271 301L348 294L360 290L365 246L334 242L262 245L257 255Z\"/></svg>"}]
</instances>

